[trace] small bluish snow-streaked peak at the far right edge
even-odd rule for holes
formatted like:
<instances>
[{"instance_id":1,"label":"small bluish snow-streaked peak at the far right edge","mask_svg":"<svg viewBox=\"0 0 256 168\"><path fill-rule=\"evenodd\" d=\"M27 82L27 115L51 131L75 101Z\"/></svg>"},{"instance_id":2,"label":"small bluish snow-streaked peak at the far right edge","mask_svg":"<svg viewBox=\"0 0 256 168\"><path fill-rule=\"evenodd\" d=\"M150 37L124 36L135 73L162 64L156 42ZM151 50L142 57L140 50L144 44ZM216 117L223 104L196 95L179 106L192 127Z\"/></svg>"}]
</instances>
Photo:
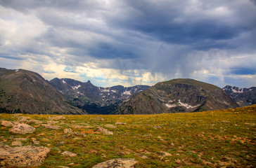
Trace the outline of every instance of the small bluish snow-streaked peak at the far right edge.
<instances>
[{"instance_id":1,"label":"small bluish snow-streaked peak at the far right edge","mask_svg":"<svg viewBox=\"0 0 256 168\"><path fill-rule=\"evenodd\" d=\"M256 87L240 88L226 85L223 90L240 106L256 104Z\"/></svg>"}]
</instances>

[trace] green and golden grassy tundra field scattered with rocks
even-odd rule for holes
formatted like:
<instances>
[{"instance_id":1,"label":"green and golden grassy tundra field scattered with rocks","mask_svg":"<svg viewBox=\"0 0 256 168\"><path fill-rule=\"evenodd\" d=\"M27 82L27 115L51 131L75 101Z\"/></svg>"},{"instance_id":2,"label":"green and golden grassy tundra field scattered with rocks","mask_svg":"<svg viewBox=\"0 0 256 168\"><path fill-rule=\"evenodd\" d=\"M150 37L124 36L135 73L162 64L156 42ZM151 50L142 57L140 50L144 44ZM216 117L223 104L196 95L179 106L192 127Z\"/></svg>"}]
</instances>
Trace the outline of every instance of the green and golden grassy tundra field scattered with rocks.
<instances>
[{"instance_id":1,"label":"green and golden grassy tundra field scattered with rocks","mask_svg":"<svg viewBox=\"0 0 256 168\"><path fill-rule=\"evenodd\" d=\"M48 115L22 116L49 121ZM61 126L60 130L30 124L36 127L32 134L12 134L11 127L1 126L1 144L11 146L15 138L25 138L26 146L37 139L39 144L34 146L51 148L40 167L92 167L113 158L135 158L136 168L256 167L255 105L198 113L65 118L53 124ZM14 121L17 116L1 114L0 119ZM97 126L114 134L97 132ZM76 133L66 134L67 128ZM77 156L62 155L64 151Z\"/></svg>"}]
</instances>

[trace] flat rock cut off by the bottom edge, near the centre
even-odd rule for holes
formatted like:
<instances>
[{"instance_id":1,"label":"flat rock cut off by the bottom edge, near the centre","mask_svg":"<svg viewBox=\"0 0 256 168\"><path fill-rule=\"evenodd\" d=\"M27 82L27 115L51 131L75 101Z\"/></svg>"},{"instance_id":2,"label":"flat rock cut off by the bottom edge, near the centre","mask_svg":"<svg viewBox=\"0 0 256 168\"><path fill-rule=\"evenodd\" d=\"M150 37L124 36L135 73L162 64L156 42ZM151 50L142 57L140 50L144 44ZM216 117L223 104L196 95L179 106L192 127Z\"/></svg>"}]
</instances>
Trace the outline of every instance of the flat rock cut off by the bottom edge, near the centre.
<instances>
[{"instance_id":1,"label":"flat rock cut off by the bottom edge, near the centre","mask_svg":"<svg viewBox=\"0 0 256 168\"><path fill-rule=\"evenodd\" d=\"M134 168L137 161L134 159L113 159L101 162L98 165L95 165L92 168Z\"/></svg>"}]
</instances>

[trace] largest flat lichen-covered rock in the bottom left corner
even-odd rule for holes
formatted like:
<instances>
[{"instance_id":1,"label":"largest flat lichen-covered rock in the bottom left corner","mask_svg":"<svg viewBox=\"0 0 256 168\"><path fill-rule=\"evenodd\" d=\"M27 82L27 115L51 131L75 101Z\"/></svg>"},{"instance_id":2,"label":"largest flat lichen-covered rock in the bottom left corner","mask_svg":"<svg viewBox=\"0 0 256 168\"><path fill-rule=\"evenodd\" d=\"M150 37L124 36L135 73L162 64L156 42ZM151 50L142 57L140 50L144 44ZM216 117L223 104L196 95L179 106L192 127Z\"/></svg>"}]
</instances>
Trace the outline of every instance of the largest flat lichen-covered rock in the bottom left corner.
<instances>
[{"instance_id":1,"label":"largest flat lichen-covered rock in the bottom left corner","mask_svg":"<svg viewBox=\"0 0 256 168\"><path fill-rule=\"evenodd\" d=\"M0 166L2 167L28 167L39 166L44 162L50 152L44 146L0 146Z\"/></svg>"}]
</instances>

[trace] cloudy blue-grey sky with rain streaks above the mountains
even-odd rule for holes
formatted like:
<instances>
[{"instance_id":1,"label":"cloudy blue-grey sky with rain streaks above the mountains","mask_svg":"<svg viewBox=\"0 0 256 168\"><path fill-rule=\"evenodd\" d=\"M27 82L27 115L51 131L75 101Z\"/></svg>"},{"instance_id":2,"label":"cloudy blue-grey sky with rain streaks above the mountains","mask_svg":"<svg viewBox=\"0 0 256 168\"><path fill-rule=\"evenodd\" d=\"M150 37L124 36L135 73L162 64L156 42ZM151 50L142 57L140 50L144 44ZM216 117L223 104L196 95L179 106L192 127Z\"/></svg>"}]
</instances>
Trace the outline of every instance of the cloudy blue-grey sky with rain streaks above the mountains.
<instances>
[{"instance_id":1,"label":"cloudy blue-grey sky with rain streaks above the mountains","mask_svg":"<svg viewBox=\"0 0 256 168\"><path fill-rule=\"evenodd\" d=\"M256 86L255 0L0 0L0 67L96 86Z\"/></svg>"}]
</instances>

